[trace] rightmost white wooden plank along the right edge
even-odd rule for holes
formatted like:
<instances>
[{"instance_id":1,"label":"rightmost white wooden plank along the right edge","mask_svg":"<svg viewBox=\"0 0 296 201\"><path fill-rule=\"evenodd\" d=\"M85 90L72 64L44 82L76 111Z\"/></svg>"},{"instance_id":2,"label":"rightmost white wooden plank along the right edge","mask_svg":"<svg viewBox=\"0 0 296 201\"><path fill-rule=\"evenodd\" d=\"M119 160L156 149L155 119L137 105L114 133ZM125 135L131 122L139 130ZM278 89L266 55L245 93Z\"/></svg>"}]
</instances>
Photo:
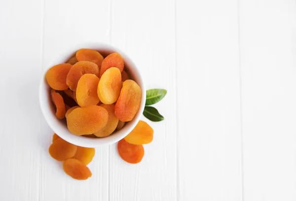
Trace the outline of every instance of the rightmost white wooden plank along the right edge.
<instances>
[{"instance_id":1,"label":"rightmost white wooden plank along the right edge","mask_svg":"<svg viewBox=\"0 0 296 201\"><path fill-rule=\"evenodd\" d=\"M296 3L239 9L245 201L295 201Z\"/></svg>"}]
</instances>

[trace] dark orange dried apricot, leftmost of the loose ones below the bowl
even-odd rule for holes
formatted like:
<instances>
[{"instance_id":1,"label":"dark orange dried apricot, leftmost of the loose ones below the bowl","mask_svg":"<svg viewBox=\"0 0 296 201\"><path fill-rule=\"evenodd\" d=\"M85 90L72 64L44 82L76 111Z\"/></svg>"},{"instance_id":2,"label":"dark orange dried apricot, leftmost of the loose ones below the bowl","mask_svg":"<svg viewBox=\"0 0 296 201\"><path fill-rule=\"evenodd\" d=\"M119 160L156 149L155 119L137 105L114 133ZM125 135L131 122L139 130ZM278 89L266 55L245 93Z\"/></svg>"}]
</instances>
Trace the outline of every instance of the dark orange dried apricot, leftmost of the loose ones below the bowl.
<instances>
[{"instance_id":1,"label":"dark orange dried apricot, leftmost of the loose ones below the bowl","mask_svg":"<svg viewBox=\"0 0 296 201\"><path fill-rule=\"evenodd\" d=\"M72 158L77 150L77 146L65 141L62 138L58 138L52 142L48 152L52 158L57 161L65 161Z\"/></svg>"}]
</instances>

